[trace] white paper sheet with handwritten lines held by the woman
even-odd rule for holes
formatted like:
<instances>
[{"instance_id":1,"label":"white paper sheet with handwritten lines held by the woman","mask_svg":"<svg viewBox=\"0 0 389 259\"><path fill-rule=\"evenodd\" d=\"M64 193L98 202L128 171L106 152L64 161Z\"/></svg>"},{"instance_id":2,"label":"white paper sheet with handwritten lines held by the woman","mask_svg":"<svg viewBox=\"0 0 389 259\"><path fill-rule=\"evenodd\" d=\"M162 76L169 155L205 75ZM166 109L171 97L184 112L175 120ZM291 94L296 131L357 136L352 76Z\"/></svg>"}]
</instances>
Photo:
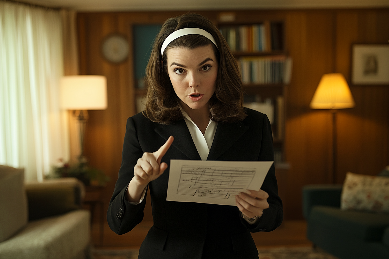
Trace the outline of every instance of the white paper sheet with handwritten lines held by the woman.
<instances>
[{"instance_id":1,"label":"white paper sheet with handwritten lines held by the woman","mask_svg":"<svg viewBox=\"0 0 389 259\"><path fill-rule=\"evenodd\" d=\"M259 190L272 164L172 159L166 200L236 206L235 195Z\"/></svg>"}]
</instances>

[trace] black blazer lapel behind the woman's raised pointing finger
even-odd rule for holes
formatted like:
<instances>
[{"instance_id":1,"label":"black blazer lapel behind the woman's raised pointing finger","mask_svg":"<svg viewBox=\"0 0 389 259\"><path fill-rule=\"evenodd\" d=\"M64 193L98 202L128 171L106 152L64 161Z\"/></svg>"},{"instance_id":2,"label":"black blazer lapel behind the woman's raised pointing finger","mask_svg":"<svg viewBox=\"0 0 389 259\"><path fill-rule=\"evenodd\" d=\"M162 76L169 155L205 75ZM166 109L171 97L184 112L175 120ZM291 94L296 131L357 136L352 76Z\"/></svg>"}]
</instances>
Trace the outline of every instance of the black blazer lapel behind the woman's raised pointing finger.
<instances>
[{"instance_id":1,"label":"black blazer lapel behind the woman's raised pointing finger","mask_svg":"<svg viewBox=\"0 0 389 259\"><path fill-rule=\"evenodd\" d=\"M184 153L191 160L201 160L197 152L195 143L185 123L185 120L179 120L176 124L165 125L161 128L156 128L155 132L163 139L174 137L173 146Z\"/></svg>"}]
</instances>

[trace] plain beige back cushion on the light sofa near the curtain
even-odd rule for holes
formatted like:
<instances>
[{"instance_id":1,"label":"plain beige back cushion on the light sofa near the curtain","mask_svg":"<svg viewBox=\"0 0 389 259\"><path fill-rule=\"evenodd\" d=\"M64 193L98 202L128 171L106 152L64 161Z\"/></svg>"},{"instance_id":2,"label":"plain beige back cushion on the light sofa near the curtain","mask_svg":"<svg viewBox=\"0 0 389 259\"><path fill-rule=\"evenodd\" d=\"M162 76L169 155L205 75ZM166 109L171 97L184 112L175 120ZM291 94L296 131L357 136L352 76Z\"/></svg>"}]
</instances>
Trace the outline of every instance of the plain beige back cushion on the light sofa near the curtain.
<instances>
[{"instance_id":1,"label":"plain beige back cushion on the light sofa near the curtain","mask_svg":"<svg viewBox=\"0 0 389 259\"><path fill-rule=\"evenodd\" d=\"M14 235L28 221L24 169L0 165L0 242Z\"/></svg>"}]
</instances>

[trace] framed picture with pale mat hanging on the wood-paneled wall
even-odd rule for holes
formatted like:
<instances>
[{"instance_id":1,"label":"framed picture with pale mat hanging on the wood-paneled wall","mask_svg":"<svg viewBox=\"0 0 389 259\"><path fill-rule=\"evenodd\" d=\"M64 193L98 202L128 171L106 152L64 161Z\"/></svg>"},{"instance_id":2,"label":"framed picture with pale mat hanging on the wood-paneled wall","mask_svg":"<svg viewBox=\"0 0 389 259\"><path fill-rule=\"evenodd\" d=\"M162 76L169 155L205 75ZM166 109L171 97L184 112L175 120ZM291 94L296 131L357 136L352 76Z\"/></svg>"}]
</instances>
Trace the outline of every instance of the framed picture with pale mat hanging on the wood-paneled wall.
<instances>
[{"instance_id":1,"label":"framed picture with pale mat hanging on the wood-paneled wall","mask_svg":"<svg viewBox=\"0 0 389 259\"><path fill-rule=\"evenodd\" d=\"M353 85L389 85L389 44L352 45Z\"/></svg>"}]
</instances>

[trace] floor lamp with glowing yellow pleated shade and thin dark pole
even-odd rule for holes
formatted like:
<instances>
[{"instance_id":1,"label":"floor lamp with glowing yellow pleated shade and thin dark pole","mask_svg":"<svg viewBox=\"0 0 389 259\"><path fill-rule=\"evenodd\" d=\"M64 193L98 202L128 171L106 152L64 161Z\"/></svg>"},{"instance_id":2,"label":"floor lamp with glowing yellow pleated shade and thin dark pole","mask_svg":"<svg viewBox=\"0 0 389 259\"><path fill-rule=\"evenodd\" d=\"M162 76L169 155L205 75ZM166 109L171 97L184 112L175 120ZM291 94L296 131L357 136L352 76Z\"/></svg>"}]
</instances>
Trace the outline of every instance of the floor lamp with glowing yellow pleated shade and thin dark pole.
<instances>
[{"instance_id":1,"label":"floor lamp with glowing yellow pleated shade and thin dark pole","mask_svg":"<svg viewBox=\"0 0 389 259\"><path fill-rule=\"evenodd\" d=\"M310 103L312 109L332 111L332 182L336 183L337 166L337 109L353 108L354 99L344 76L341 73L324 74Z\"/></svg>"}]
</instances>

